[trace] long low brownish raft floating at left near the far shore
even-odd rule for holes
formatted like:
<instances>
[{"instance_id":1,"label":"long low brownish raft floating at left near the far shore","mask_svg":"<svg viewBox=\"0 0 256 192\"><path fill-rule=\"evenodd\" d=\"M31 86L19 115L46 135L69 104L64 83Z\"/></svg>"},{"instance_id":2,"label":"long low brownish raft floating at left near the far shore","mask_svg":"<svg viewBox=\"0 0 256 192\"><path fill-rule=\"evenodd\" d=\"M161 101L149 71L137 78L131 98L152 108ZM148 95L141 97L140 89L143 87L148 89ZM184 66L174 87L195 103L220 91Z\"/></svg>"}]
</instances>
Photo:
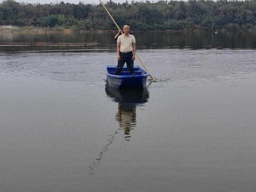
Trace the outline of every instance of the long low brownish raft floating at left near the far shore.
<instances>
[{"instance_id":1,"label":"long low brownish raft floating at left near the far shore","mask_svg":"<svg viewBox=\"0 0 256 192\"><path fill-rule=\"evenodd\" d=\"M59 46L59 47L86 47L99 43L59 43L59 42L0 42L0 46Z\"/></svg>"}]
</instances>

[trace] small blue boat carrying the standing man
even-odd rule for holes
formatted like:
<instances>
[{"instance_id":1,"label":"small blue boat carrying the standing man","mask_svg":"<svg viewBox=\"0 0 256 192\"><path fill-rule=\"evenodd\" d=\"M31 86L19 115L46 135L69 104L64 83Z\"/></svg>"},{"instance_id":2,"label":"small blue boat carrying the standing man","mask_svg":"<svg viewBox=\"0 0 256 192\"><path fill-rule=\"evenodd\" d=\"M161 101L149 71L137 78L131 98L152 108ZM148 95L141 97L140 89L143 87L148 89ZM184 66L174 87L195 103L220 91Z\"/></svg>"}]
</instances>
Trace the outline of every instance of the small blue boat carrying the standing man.
<instances>
[{"instance_id":1,"label":"small blue boat carrying the standing man","mask_svg":"<svg viewBox=\"0 0 256 192\"><path fill-rule=\"evenodd\" d=\"M149 73L139 66L134 66L134 76L124 66L119 75L115 75L116 66L106 66L106 75L110 87L119 88L145 88Z\"/></svg>"}]
</instances>

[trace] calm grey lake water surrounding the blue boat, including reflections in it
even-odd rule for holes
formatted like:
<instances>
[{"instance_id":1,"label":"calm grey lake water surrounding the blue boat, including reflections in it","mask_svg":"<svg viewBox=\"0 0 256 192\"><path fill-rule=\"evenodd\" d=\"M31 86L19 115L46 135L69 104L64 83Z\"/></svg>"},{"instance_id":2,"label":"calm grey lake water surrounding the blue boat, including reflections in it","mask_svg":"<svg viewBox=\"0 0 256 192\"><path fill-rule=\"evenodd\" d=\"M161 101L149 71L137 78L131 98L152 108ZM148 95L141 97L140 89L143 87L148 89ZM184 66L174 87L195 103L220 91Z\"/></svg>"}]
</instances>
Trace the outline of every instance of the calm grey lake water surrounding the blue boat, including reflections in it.
<instances>
[{"instance_id":1,"label":"calm grey lake water surrounding the blue boat, including reflections in it","mask_svg":"<svg viewBox=\"0 0 256 192\"><path fill-rule=\"evenodd\" d=\"M134 35L155 78L136 92L106 85L114 33L0 34L99 42L0 47L1 192L255 190L255 34Z\"/></svg>"}]
</instances>

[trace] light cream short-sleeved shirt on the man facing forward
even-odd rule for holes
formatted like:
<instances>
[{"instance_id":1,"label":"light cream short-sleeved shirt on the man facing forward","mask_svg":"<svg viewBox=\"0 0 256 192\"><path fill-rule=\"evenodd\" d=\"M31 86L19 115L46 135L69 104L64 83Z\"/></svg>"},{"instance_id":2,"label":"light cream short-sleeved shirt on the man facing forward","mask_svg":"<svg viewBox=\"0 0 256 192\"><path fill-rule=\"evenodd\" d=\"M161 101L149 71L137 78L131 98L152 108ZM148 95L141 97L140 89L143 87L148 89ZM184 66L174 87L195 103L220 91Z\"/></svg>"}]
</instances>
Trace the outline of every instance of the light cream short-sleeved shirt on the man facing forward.
<instances>
[{"instance_id":1,"label":"light cream short-sleeved shirt on the man facing forward","mask_svg":"<svg viewBox=\"0 0 256 192\"><path fill-rule=\"evenodd\" d=\"M117 43L120 43L120 52L128 53L132 51L132 44L136 43L136 40L131 34L128 36L124 36L124 34L122 34L117 38Z\"/></svg>"}]
</instances>

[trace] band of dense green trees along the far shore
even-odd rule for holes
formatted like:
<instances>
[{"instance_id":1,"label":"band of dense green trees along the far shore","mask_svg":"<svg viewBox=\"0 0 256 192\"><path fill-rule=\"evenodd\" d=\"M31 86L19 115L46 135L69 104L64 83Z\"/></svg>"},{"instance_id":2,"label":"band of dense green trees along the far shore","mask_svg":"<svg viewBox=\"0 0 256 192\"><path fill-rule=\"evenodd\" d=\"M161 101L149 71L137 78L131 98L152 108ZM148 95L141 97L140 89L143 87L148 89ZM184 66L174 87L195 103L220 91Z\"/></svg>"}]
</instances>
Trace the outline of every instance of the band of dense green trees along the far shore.
<instances>
[{"instance_id":1,"label":"band of dense green trees along the far shore","mask_svg":"<svg viewBox=\"0 0 256 192\"><path fill-rule=\"evenodd\" d=\"M256 0L189 0L152 3L115 3L106 7L122 26L135 30L237 30L256 25ZM1 25L64 26L75 30L115 30L101 4L24 4L14 0L0 3Z\"/></svg>"}]
</instances>

